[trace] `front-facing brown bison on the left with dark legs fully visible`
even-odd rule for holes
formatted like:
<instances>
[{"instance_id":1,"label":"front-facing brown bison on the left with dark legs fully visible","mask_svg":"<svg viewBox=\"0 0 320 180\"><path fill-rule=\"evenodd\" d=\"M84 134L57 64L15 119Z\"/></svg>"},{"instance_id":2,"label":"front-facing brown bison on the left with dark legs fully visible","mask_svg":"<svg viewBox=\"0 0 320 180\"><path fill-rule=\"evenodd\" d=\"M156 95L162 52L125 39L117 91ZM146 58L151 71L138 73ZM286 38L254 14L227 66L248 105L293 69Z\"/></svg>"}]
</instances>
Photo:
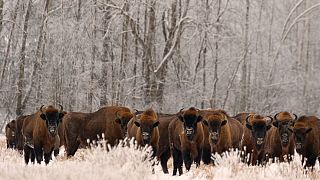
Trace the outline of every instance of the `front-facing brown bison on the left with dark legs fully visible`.
<instances>
[{"instance_id":1,"label":"front-facing brown bison on the left with dark legs fully visible","mask_svg":"<svg viewBox=\"0 0 320 180\"><path fill-rule=\"evenodd\" d=\"M22 126L22 134L24 136L24 159L28 164L30 155L31 161L34 157L40 164L43 160L46 164L49 163L57 141L57 128L63 117L63 107L60 105L60 110L54 106L47 106L36 113L25 118Z\"/></svg>"}]
</instances>

